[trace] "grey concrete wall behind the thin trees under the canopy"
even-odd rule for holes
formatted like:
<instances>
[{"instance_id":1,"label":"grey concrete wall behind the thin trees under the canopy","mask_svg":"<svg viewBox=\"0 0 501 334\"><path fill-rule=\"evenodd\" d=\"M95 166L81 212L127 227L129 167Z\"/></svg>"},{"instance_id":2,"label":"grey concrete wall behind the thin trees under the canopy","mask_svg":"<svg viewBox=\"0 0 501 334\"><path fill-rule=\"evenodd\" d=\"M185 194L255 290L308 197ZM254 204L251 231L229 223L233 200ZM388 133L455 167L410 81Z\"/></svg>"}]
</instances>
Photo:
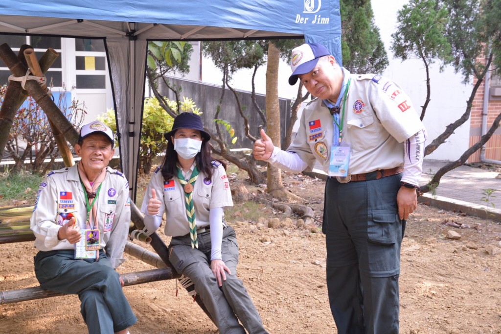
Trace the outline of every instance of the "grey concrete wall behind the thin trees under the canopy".
<instances>
[{"instance_id":1,"label":"grey concrete wall behind the thin trees under the canopy","mask_svg":"<svg viewBox=\"0 0 501 334\"><path fill-rule=\"evenodd\" d=\"M182 101L182 97L185 96L187 98L192 98L195 102L196 106L200 108L200 111L203 112L202 119L204 126L208 127L211 131L215 132L214 125L214 115L216 113L216 107L219 103L219 99L221 97L221 86L201 83L197 81L184 80L179 78L168 78L171 83L175 85L180 85L182 87L182 91L180 94L180 99ZM174 94L172 91L167 89L166 87L160 87L160 93L163 96L167 96L169 99L174 100ZM249 121L250 133L260 138L261 136L258 134L258 126L262 125L263 122L261 117L258 115L252 100L250 99L250 93L245 91L238 91L238 96L240 98L240 104L244 109L243 113L246 115ZM266 97L265 95L258 94L257 95L258 105L262 110L266 108ZM282 139L285 137L286 126L289 124L290 115L291 115L291 101L287 99L280 99L280 118L282 120L281 126L281 134ZM221 106L221 112L219 113L219 117L229 122L231 126L235 129L235 135L238 137L237 142L231 148L242 148L242 147L252 147L253 142L244 136L244 121L238 112L238 106L235 100L233 93L226 89L224 92L224 98ZM268 128L271 126L277 126L277 124L268 124ZM227 131L222 127L222 131L224 131L224 135L226 136L226 142L229 142L229 135ZM212 142L215 145L215 142Z\"/></svg>"}]
</instances>

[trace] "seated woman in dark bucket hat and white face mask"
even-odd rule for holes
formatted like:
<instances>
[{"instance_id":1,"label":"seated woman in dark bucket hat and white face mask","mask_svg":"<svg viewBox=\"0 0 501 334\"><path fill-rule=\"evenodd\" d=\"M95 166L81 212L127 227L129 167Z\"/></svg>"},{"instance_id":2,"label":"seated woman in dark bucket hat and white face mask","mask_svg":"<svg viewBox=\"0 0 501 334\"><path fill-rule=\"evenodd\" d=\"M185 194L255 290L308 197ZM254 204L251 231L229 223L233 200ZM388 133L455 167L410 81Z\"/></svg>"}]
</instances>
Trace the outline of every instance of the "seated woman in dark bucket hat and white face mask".
<instances>
[{"instance_id":1,"label":"seated woman in dark bucket hat and white face mask","mask_svg":"<svg viewBox=\"0 0 501 334\"><path fill-rule=\"evenodd\" d=\"M266 333L236 277L235 231L223 221L223 208L233 206L225 164L211 158L210 135L196 114L178 115L165 136L165 159L151 177L141 210L147 233L160 227L165 212L165 234L172 236L169 260L191 279L220 333L245 333L244 327Z\"/></svg>"}]
</instances>

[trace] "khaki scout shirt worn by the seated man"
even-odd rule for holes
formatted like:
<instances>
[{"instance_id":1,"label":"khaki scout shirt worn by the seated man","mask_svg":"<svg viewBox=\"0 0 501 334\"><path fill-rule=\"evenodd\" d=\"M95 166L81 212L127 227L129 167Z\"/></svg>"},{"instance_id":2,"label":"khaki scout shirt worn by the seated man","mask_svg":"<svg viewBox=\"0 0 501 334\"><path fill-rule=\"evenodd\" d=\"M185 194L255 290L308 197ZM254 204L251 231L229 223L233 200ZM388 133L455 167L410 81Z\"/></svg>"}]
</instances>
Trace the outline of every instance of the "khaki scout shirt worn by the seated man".
<instances>
[{"instance_id":1,"label":"khaki scout shirt worn by the seated man","mask_svg":"<svg viewBox=\"0 0 501 334\"><path fill-rule=\"evenodd\" d=\"M130 227L129 184L122 173L107 167L97 199L97 216L100 231L100 249L105 249L113 268L122 258ZM40 251L74 249L66 239L58 240L58 231L71 216L85 229L87 207L78 167L53 171L40 184L37 201L31 217L35 248ZM97 226L95 227L97 229Z\"/></svg>"}]
</instances>

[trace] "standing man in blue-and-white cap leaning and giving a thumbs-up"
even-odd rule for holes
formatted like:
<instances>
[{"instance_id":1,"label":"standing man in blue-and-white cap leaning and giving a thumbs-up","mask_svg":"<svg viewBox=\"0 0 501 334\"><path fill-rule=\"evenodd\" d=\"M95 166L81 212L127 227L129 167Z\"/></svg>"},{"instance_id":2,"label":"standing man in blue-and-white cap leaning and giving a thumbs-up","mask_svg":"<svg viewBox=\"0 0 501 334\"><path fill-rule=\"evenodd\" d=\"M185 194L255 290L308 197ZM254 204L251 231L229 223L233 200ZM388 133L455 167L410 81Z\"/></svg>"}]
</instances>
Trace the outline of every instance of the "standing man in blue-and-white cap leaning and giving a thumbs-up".
<instances>
[{"instance_id":1,"label":"standing man in blue-and-white cap leaning and giving a thumbs-up","mask_svg":"<svg viewBox=\"0 0 501 334\"><path fill-rule=\"evenodd\" d=\"M322 45L292 52L291 85L316 99L287 151L262 130L253 154L290 172L316 161L328 179L322 230L338 333L398 333L400 246L417 208L426 133L409 97L379 75L351 74Z\"/></svg>"}]
</instances>

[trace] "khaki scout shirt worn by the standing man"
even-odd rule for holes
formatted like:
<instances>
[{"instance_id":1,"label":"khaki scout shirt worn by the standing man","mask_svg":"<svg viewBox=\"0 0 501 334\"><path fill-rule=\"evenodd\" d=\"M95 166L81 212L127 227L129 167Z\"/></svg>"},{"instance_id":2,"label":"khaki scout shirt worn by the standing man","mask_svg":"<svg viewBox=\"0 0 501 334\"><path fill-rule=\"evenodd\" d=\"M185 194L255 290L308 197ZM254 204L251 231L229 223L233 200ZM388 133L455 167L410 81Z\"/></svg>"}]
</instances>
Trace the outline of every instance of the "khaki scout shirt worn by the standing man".
<instances>
[{"instance_id":1,"label":"khaki scout shirt worn by the standing man","mask_svg":"<svg viewBox=\"0 0 501 334\"><path fill-rule=\"evenodd\" d=\"M348 174L369 173L403 165L403 141L424 129L407 94L394 82L373 74L350 74L344 109L343 144L351 147ZM341 125L341 124L340 124ZM299 130L288 151L297 153L313 169L315 160L329 172L334 121L320 99L310 102L301 115Z\"/></svg>"}]
</instances>

